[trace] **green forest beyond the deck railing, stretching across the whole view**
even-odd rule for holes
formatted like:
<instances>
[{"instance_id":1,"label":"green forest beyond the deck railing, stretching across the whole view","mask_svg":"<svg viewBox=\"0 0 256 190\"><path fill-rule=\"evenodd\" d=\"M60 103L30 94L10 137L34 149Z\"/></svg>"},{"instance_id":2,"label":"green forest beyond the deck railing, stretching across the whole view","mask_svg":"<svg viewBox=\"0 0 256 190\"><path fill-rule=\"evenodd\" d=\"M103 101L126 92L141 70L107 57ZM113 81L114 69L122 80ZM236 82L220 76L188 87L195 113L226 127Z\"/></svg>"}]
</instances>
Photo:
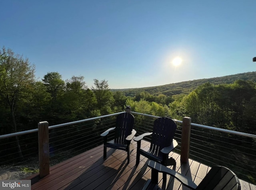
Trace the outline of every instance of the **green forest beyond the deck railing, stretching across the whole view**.
<instances>
[{"instance_id":1,"label":"green forest beyond the deck railing, stretching across the whole view","mask_svg":"<svg viewBox=\"0 0 256 190\"><path fill-rule=\"evenodd\" d=\"M107 80L84 76L64 80L48 72L36 80L35 66L11 49L0 49L0 135L49 125L132 111L182 119L255 134L256 72L163 86L114 89Z\"/></svg>"}]
</instances>

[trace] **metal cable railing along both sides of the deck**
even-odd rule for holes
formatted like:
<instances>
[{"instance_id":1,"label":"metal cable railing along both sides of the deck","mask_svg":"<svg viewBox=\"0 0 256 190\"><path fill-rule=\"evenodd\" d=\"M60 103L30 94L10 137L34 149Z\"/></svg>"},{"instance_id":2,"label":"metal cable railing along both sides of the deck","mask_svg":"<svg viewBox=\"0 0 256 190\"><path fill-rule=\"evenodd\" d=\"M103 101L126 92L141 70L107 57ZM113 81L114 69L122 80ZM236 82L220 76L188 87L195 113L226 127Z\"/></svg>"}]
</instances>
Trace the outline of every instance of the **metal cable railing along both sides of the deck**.
<instances>
[{"instance_id":1,"label":"metal cable railing along both sides of the deck","mask_svg":"<svg viewBox=\"0 0 256 190\"><path fill-rule=\"evenodd\" d=\"M56 165L93 147L102 145L103 139L100 134L115 126L116 115L120 113L123 112L47 126L50 165ZM159 118L137 112L131 113L135 117L136 136L151 132L154 120ZM174 138L178 142L174 151L182 154L184 121L173 120L177 123ZM190 159L208 166L226 166L233 170L239 178L256 184L256 135L196 123L190 123L190 127L188 149ZM34 172L38 172L38 160L40 160L38 157L38 129L1 135L0 143L1 167L32 165ZM27 161L28 159L29 161Z\"/></svg>"}]
</instances>

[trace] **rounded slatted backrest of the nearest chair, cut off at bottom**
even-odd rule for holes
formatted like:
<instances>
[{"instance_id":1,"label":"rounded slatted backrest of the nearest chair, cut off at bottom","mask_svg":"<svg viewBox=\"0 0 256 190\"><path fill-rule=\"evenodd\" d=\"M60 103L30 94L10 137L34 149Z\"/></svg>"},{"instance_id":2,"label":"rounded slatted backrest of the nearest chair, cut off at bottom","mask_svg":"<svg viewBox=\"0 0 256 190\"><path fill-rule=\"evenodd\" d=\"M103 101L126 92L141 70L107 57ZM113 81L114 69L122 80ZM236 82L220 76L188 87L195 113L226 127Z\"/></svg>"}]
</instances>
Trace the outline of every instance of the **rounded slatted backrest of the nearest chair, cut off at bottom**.
<instances>
[{"instance_id":1,"label":"rounded slatted backrest of the nearest chair, cut off at bottom","mask_svg":"<svg viewBox=\"0 0 256 190\"><path fill-rule=\"evenodd\" d=\"M196 190L240 190L240 182L234 172L224 166L214 166Z\"/></svg>"}]
</instances>

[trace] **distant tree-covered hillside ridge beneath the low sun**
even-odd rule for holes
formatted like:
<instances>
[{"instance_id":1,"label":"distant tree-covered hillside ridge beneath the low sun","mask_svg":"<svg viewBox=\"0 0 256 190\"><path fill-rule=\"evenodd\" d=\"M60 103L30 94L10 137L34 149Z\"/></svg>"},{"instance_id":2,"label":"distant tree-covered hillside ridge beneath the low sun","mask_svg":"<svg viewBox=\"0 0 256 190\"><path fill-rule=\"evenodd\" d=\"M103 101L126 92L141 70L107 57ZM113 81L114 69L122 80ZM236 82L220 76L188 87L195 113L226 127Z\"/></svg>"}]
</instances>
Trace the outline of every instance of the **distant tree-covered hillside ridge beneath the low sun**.
<instances>
[{"instance_id":1,"label":"distant tree-covered hillside ridge beneath the low sun","mask_svg":"<svg viewBox=\"0 0 256 190\"><path fill-rule=\"evenodd\" d=\"M164 94L167 96L175 94L189 94L192 90L196 89L201 84L210 82L212 84L230 84L235 80L252 80L256 82L256 71L254 72L244 72L240 74L232 74L228 76L214 77L214 78L204 78L198 80L189 80L184 82L177 82L172 84L165 84L161 86L152 86L144 88L128 88L128 89L111 89L112 92L122 91L126 96L135 96L140 92L148 92L152 95Z\"/></svg>"}]
</instances>

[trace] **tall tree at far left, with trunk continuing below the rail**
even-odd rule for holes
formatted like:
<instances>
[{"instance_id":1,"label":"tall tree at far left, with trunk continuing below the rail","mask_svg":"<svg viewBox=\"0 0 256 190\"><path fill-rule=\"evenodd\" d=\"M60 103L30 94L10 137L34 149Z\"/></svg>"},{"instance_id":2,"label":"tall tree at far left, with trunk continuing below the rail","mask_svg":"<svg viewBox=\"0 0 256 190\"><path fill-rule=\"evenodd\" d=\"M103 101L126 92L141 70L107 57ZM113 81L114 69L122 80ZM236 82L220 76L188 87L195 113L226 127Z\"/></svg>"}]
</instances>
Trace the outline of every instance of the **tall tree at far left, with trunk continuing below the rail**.
<instances>
[{"instance_id":1,"label":"tall tree at far left, with trunk continuing below the rail","mask_svg":"<svg viewBox=\"0 0 256 190\"><path fill-rule=\"evenodd\" d=\"M9 106L11 131L17 132L16 110L18 105L30 93L30 85L34 83L35 67L28 59L15 54L11 49L0 50L0 96ZM23 159L18 137L16 137L20 159Z\"/></svg>"}]
</instances>

